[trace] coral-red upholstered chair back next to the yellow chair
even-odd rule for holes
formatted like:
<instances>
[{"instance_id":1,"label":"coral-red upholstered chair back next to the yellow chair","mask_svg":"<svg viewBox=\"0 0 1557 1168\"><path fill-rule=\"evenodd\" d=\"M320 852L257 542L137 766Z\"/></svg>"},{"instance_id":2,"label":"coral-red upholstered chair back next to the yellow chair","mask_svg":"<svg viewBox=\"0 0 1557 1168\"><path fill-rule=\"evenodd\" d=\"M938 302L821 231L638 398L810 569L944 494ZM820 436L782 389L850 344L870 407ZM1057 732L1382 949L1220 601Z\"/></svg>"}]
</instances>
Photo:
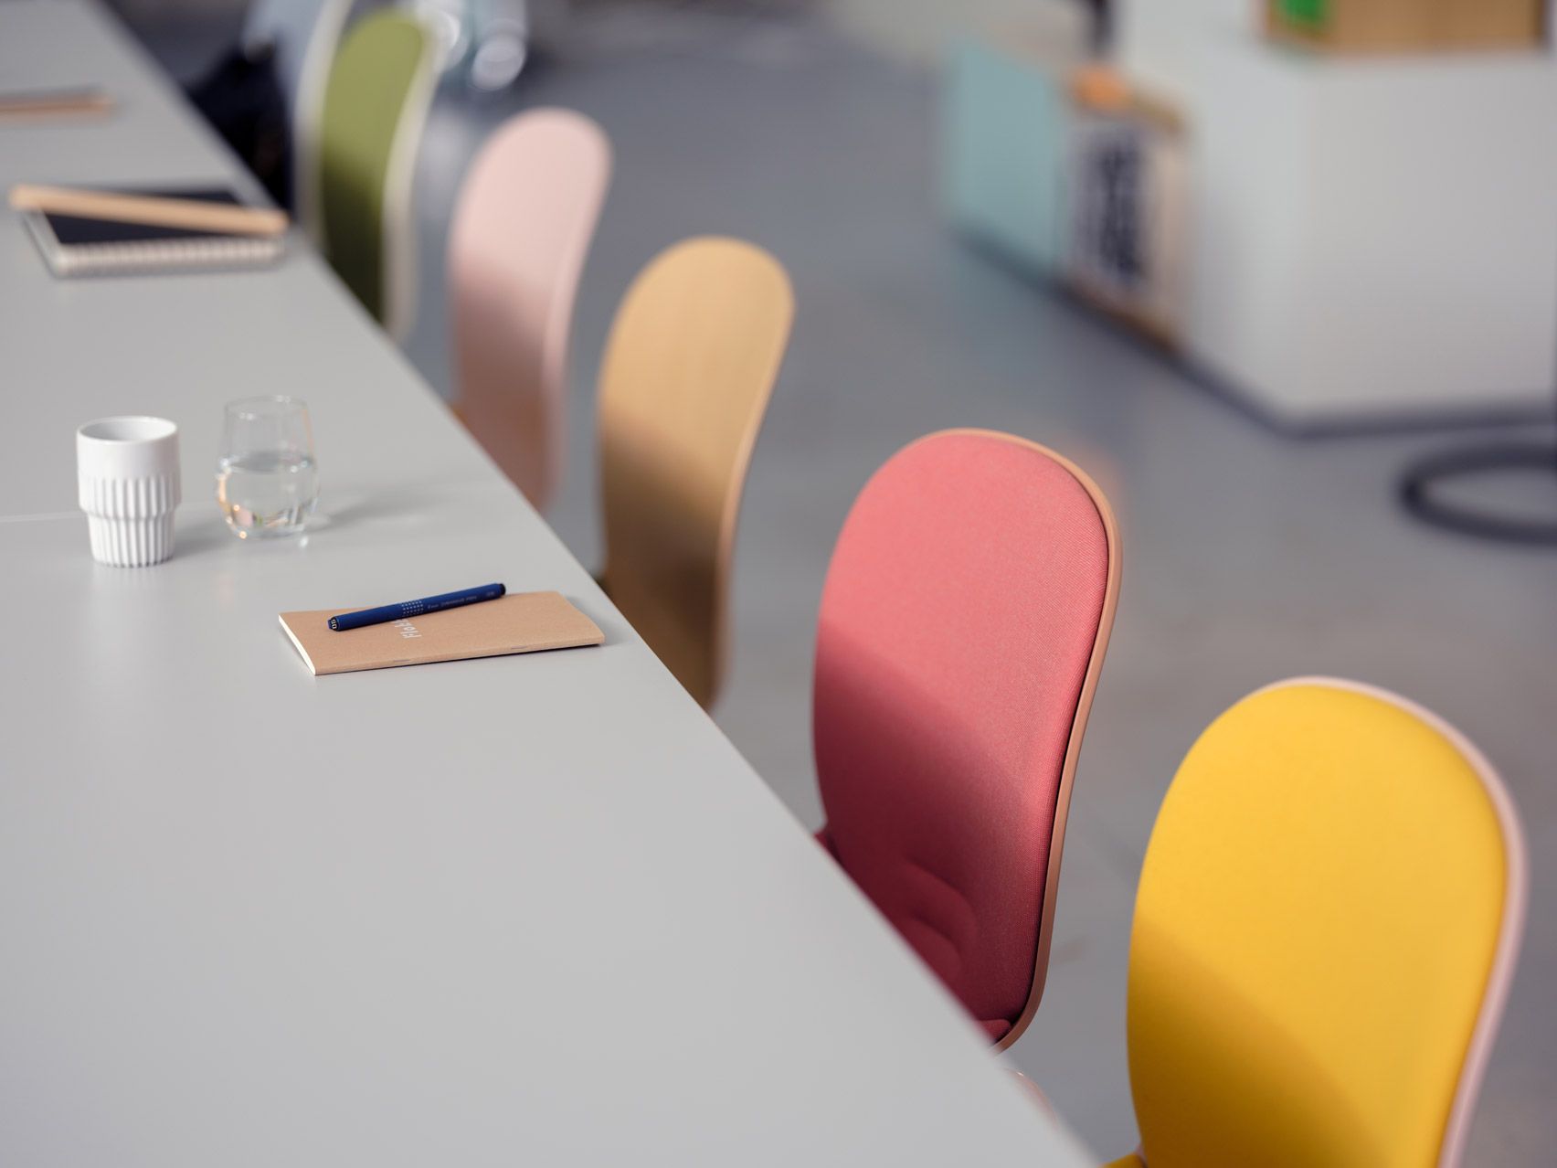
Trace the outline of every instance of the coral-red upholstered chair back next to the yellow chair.
<instances>
[{"instance_id":1,"label":"coral-red upholstered chair back next to the yellow chair","mask_svg":"<svg viewBox=\"0 0 1557 1168\"><path fill-rule=\"evenodd\" d=\"M822 841L1009 1045L1043 990L1076 754L1113 623L1113 514L1007 434L898 452L822 593Z\"/></svg>"}]
</instances>

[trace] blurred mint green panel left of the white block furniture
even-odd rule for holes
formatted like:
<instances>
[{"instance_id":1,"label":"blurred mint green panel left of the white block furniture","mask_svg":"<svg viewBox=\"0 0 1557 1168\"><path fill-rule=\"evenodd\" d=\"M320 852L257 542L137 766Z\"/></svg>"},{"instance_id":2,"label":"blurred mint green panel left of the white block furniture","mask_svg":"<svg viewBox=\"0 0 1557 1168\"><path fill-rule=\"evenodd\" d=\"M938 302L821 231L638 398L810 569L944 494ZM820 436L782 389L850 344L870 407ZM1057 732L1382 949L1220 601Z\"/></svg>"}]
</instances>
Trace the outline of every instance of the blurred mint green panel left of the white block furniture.
<instances>
[{"instance_id":1,"label":"blurred mint green panel left of the white block furniture","mask_svg":"<svg viewBox=\"0 0 1557 1168\"><path fill-rule=\"evenodd\" d=\"M1065 266L1065 78L1018 50L951 47L942 89L942 201L953 226L1045 276Z\"/></svg>"}]
</instances>

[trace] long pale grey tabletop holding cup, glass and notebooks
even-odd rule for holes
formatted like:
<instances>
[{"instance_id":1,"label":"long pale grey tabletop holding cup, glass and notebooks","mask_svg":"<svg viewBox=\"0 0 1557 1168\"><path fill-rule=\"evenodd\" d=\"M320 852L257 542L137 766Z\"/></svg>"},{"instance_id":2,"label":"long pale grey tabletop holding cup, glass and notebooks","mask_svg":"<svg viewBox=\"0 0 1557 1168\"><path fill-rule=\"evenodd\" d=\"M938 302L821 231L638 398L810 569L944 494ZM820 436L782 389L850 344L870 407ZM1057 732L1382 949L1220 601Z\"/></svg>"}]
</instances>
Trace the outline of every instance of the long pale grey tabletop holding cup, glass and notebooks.
<instances>
[{"instance_id":1,"label":"long pale grey tabletop holding cup, glass and notebooks","mask_svg":"<svg viewBox=\"0 0 1557 1168\"><path fill-rule=\"evenodd\" d=\"M0 90L76 83L0 184L252 192L111 17L0 2ZM301 241L65 282L3 210L0 386L0 1163L1091 1163ZM262 392L307 539L212 498ZM75 514L112 413L182 431L156 568ZM487 579L606 645L315 679L276 623Z\"/></svg>"}]
</instances>

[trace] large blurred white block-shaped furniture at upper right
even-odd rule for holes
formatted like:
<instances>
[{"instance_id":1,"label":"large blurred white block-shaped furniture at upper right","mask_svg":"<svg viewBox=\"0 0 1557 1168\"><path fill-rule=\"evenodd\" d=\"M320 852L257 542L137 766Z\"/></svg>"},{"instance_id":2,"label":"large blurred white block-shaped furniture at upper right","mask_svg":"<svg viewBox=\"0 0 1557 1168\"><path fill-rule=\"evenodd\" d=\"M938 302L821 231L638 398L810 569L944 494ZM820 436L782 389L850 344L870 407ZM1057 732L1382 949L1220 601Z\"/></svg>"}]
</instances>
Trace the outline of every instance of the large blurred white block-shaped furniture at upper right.
<instances>
[{"instance_id":1,"label":"large blurred white block-shaped furniture at upper right","mask_svg":"<svg viewBox=\"0 0 1557 1168\"><path fill-rule=\"evenodd\" d=\"M1188 125L1196 368L1299 428L1549 406L1549 50L1327 56L1216 0L1137 0L1118 33Z\"/></svg>"}]
</instances>

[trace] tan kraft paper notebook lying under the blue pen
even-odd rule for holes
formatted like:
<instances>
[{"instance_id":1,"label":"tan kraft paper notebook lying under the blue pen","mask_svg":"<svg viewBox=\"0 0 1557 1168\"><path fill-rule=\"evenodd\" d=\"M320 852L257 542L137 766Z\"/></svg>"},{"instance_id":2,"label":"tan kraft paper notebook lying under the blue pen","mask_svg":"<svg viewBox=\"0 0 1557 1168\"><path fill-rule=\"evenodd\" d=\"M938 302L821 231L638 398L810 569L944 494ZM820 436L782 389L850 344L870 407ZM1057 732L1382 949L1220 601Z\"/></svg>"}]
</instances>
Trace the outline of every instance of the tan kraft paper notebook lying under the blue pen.
<instances>
[{"instance_id":1,"label":"tan kraft paper notebook lying under the blue pen","mask_svg":"<svg viewBox=\"0 0 1557 1168\"><path fill-rule=\"evenodd\" d=\"M330 617L360 607L282 614L282 629L316 677L434 660L571 649L606 640L595 621L557 592L511 592L501 600L430 612L416 620L369 624L349 632L330 629Z\"/></svg>"}]
</instances>

